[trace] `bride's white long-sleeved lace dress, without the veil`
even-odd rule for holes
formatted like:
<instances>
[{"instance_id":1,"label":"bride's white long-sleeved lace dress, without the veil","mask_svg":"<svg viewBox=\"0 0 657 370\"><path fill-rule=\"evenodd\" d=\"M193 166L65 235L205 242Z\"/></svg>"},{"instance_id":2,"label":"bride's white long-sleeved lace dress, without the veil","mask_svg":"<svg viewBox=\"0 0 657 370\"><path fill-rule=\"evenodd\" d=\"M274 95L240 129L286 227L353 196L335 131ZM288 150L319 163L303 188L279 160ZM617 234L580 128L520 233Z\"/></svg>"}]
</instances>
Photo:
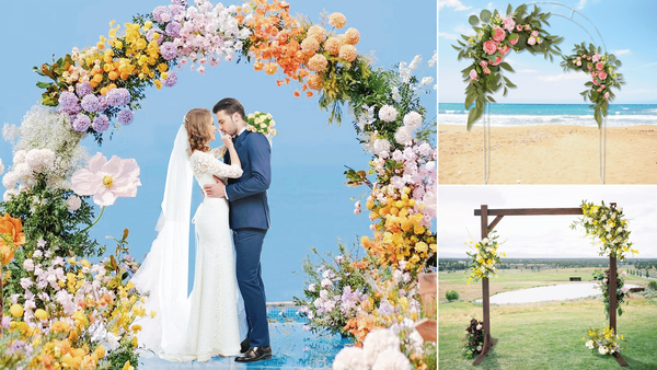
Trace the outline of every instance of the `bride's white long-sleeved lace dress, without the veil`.
<instances>
[{"instance_id":1,"label":"bride's white long-sleeved lace dress, without the veil","mask_svg":"<svg viewBox=\"0 0 657 370\"><path fill-rule=\"evenodd\" d=\"M201 186L212 176L238 178L242 170L220 162L222 150L195 151L192 169ZM234 250L228 222L228 200L205 197L193 222L196 226L196 264L186 337L178 348L160 354L170 361L207 361L214 356L240 355L239 292Z\"/></svg>"}]
</instances>

